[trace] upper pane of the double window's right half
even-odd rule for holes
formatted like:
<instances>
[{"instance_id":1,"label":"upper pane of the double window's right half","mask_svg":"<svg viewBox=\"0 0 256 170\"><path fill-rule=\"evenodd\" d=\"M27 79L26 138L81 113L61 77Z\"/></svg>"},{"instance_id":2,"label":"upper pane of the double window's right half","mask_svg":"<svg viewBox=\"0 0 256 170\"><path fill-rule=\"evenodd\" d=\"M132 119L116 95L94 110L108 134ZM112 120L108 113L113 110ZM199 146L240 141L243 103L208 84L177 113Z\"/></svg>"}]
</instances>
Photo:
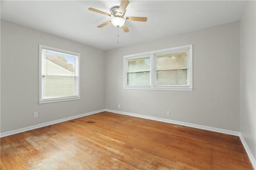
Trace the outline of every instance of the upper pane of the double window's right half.
<instances>
[{"instance_id":1,"label":"upper pane of the double window's right half","mask_svg":"<svg viewBox=\"0 0 256 170\"><path fill-rule=\"evenodd\" d=\"M187 67L187 52L156 56L156 69Z\"/></svg>"}]
</instances>

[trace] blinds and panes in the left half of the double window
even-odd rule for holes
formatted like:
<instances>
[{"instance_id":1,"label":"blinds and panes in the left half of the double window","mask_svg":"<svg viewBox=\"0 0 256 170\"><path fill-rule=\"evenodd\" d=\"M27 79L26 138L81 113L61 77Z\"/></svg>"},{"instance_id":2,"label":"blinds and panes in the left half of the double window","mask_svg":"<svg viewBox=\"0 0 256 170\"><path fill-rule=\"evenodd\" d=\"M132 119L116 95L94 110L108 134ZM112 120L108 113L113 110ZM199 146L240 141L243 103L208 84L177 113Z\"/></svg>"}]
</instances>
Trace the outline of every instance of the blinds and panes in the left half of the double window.
<instances>
[{"instance_id":1,"label":"blinds and panes in the left half of the double window","mask_svg":"<svg viewBox=\"0 0 256 170\"><path fill-rule=\"evenodd\" d=\"M128 60L127 85L150 85L150 57Z\"/></svg>"}]
</instances>

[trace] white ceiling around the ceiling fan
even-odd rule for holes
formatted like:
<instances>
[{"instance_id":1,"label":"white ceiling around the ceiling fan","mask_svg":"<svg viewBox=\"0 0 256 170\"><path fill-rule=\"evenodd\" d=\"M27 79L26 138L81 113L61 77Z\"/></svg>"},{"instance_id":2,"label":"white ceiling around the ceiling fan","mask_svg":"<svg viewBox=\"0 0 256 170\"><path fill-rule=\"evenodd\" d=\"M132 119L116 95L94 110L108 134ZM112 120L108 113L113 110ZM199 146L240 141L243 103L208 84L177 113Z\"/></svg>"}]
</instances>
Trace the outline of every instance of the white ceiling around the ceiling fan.
<instances>
[{"instance_id":1,"label":"white ceiling around the ceiling fan","mask_svg":"<svg viewBox=\"0 0 256 170\"><path fill-rule=\"evenodd\" d=\"M148 17L147 22L126 21L130 30L108 24L110 13L121 0L94 1L4 1L1 19L40 30L102 50L116 49L164 37L240 20L248 1L152 1L130 0L125 16ZM119 32L119 43L117 35Z\"/></svg>"}]
</instances>

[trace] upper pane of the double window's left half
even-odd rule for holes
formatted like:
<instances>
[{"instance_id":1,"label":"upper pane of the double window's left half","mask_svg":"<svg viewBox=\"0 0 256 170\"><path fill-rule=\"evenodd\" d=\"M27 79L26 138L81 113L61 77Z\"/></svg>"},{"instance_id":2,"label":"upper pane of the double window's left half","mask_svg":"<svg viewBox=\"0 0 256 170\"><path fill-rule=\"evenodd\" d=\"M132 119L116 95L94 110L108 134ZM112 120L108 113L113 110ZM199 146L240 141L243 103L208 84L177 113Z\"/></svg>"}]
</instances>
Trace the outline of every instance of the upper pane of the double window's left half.
<instances>
[{"instance_id":1,"label":"upper pane of the double window's left half","mask_svg":"<svg viewBox=\"0 0 256 170\"><path fill-rule=\"evenodd\" d=\"M128 71L144 71L150 69L150 57L128 60Z\"/></svg>"}]
</instances>

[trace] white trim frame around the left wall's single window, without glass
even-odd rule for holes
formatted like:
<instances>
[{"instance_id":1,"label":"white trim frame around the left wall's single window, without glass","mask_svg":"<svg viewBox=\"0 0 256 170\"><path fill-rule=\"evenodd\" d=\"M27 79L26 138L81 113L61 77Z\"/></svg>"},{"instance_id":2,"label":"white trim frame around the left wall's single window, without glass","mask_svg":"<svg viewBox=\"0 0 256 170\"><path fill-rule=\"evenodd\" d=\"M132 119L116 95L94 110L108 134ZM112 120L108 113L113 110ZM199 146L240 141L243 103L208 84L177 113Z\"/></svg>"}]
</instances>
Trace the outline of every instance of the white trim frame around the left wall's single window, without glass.
<instances>
[{"instance_id":1,"label":"white trim frame around the left wall's single window, without glass","mask_svg":"<svg viewBox=\"0 0 256 170\"><path fill-rule=\"evenodd\" d=\"M43 68L42 68L42 62L44 62L44 57L42 57L42 49L48 49L50 51L56 51L56 52L60 52L60 53L66 53L66 54L70 54L70 55L76 55L77 56L77 62L78 64L76 64L77 70L78 70L78 96L75 97L62 97L62 98L54 98L54 99L42 99L42 93L43 93L43 89L42 89L42 72L43 72ZM72 52L72 51L67 51L64 49L59 49L59 48L54 48L54 47L49 47L46 45L41 45L39 44L39 104L44 104L44 103L53 103L53 102L60 102L60 101L71 101L71 100L79 100L81 99L81 95L80 95L80 53L76 53L76 52Z\"/></svg>"}]
</instances>

